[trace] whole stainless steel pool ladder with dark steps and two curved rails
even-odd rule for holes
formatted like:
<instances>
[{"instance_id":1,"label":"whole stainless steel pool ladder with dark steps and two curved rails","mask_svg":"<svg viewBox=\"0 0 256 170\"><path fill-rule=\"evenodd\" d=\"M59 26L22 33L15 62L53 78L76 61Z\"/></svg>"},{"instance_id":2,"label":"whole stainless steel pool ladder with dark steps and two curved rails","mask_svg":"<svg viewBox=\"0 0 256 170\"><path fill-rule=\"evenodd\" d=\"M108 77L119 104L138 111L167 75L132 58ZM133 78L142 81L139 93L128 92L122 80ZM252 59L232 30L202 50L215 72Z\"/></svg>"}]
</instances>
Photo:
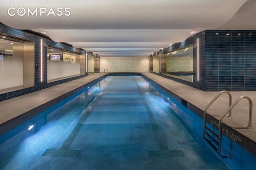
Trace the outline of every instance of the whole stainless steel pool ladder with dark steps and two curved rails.
<instances>
[{"instance_id":1,"label":"whole stainless steel pool ladder with dark steps and two curved rails","mask_svg":"<svg viewBox=\"0 0 256 170\"><path fill-rule=\"evenodd\" d=\"M213 130L211 130L210 128L208 128L206 126L206 110L215 102L215 100L217 100L217 98L219 98L220 95L222 95L223 93L227 93L229 96L229 107L228 109L220 116L219 119L219 124L218 124L218 134L216 134ZM210 146L212 146L212 148L214 148L214 150L216 150L216 152L218 152L219 156L222 158L231 158L232 156L232 148L230 148L230 155L229 156L224 156L221 154L221 144L222 144L222 119L226 116L226 114L228 114L228 118L232 118L232 108L243 98L246 98L249 101L249 122L248 122L248 126L246 126L249 129L253 129L252 128L252 100L248 97L248 96L240 96L238 99L236 99L236 101L232 104L232 95L230 94L230 92L228 91L222 91L220 92L217 96L214 97L214 99L212 99L212 101L204 108L204 140L206 140L206 142L208 142L210 144ZM213 124L212 124L213 125ZM212 134L212 135L211 135ZM208 139L206 136L208 136L210 139ZM214 136L217 138L214 138ZM215 144L214 144L215 143Z\"/></svg>"}]
</instances>

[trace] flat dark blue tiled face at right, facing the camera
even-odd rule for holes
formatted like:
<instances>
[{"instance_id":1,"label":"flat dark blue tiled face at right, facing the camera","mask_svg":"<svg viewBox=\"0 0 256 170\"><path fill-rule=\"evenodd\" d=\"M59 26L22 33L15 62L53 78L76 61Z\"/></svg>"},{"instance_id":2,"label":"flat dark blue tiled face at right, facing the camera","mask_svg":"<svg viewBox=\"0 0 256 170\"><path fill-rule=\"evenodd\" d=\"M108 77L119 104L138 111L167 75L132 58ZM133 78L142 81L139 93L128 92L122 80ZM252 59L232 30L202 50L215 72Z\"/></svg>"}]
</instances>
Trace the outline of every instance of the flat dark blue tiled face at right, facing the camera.
<instances>
[{"instance_id":1,"label":"flat dark blue tiled face at right, facing the camera","mask_svg":"<svg viewBox=\"0 0 256 170\"><path fill-rule=\"evenodd\" d=\"M205 91L256 90L256 30L206 30L205 60Z\"/></svg>"}]
</instances>

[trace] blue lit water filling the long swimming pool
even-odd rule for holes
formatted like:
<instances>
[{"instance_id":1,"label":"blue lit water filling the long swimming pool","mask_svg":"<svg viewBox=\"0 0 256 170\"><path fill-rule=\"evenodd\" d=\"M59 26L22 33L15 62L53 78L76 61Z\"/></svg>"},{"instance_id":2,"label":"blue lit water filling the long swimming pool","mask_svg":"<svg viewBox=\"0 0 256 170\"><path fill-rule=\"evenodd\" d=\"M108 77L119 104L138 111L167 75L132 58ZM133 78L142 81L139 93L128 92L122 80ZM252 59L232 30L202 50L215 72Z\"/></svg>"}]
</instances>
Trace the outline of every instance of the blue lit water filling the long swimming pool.
<instances>
[{"instance_id":1,"label":"blue lit water filling the long swimming pool","mask_svg":"<svg viewBox=\"0 0 256 170\"><path fill-rule=\"evenodd\" d=\"M0 169L255 170L236 143L219 158L202 125L141 76L110 76L1 136Z\"/></svg>"}]
</instances>

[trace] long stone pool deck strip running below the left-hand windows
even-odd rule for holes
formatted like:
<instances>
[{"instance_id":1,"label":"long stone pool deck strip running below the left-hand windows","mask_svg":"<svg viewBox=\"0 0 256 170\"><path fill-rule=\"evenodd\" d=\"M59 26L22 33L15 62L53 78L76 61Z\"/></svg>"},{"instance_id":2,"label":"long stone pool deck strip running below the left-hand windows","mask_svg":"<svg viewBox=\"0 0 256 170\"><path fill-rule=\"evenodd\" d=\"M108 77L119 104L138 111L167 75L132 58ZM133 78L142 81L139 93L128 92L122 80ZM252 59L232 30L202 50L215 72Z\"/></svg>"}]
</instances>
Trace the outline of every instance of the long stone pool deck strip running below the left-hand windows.
<instances>
[{"instance_id":1,"label":"long stone pool deck strip running below the left-hand windows","mask_svg":"<svg viewBox=\"0 0 256 170\"><path fill-rule=\"evenodd\" d=\"M72 80L70 82L62 83L50 88L11 98L0 102L0 125L21 116L39 106L42 106L60 96L71 92L72 90L90 83L104 73L94 73L86 77ZM41 109L42 110L42 109Z\"/></svg>"}]
</instances>

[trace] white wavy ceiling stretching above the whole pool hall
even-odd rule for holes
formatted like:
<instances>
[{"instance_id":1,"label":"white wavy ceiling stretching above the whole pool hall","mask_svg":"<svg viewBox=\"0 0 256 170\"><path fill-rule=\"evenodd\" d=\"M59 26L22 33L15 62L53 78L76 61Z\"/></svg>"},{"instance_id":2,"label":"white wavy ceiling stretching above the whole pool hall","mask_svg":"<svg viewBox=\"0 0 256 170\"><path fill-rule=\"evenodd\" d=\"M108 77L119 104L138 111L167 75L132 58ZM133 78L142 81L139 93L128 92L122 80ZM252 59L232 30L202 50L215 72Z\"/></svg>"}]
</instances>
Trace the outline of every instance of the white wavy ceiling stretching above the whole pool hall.
<instances>
[{"instance_id":1,"label":"white wavy ceiling stretching above the whole pool hall","mask_svg":"<svg viewBox=\"0 0 256 170\"><path fill-rule=\"evenodd\" d=\"M0 0L0 22L18 29L45 32L56 42L69 42L76 48L103 56L144 56L168 47L171 42L183 41L198 30L248 29L249 22L250 29L256 29L256 0L244 4L246 1ZM21 6L54 10L69 7L71 15L7 15L8 8Z\"/></svg>"}]
</instances>

